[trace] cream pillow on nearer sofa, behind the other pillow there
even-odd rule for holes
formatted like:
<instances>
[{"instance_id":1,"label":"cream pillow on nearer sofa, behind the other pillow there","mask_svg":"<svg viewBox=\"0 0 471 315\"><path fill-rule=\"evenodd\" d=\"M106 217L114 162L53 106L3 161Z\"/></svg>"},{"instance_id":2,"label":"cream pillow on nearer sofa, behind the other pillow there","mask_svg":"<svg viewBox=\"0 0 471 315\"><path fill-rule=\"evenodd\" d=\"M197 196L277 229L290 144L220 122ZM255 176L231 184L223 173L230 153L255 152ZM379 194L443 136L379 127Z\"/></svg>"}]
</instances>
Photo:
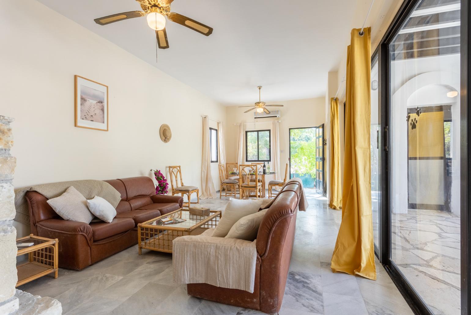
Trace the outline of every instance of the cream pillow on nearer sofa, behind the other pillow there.
<instances>
[{"instance_id":1,"label":"cream pillow on nearer sofa, behind the other pillow there","mask_svg":"<svg viewBox=\"0 0 471 315\"><path fill-rule=\"evenodd\" d=\"M240 200L229 198L229 203L227 203L226 209L222 212L222 217L219 219L218 226L214 229L212 236L226 236L235 222L242 217L258 212L261 204L261 200L257 199Z\"/></svg>"}]
</instances>

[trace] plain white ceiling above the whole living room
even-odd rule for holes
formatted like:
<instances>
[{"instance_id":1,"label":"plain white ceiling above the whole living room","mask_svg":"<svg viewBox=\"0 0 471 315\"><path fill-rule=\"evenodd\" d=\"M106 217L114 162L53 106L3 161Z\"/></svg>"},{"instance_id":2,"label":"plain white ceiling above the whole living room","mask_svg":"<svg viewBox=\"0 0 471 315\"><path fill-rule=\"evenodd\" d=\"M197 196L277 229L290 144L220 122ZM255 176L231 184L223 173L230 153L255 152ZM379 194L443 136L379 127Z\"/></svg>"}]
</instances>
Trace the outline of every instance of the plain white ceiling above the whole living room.
<instances>
[{"instance_id":1,"label":"plain white ceiling above the whole living room","mask_svg":"<svg viewBox=\"0 0 471 315\"><path fill-rule=\"evenodd\" d=\"M207 24L214 32L206 37L167 21L170 48L159 49L156 63L155 33L145 17L105 26L93 21L140 10L138 2L39 1L224 105L258 101L258 85L266 102L323 97L327 73L337 70L351 28L361 27L371 3L174 0L172 12Z\"/></svg>"}]
</instances>

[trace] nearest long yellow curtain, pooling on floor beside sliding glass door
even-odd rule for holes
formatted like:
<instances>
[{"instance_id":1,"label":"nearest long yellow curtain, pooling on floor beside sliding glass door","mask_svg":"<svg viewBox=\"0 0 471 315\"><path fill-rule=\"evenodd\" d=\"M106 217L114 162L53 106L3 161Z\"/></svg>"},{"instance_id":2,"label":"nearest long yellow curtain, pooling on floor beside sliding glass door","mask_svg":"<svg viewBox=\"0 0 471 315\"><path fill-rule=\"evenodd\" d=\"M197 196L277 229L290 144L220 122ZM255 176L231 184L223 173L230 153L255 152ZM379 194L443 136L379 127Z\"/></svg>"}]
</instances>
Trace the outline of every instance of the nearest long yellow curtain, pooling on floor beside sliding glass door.
<instances>
[{"instance_id":1,"label":"nearest long yellow curtain, pooling on floor beside sliding glass door","mask_svg":"<svg viewBox=\"0 0 471 315\"><path fill-rule=\"evenodd\" d=\"M376 280L370 167L371 29L351 32L347 49L345 158L342 222L331 268Z\"/></svg>"}]
</instances>

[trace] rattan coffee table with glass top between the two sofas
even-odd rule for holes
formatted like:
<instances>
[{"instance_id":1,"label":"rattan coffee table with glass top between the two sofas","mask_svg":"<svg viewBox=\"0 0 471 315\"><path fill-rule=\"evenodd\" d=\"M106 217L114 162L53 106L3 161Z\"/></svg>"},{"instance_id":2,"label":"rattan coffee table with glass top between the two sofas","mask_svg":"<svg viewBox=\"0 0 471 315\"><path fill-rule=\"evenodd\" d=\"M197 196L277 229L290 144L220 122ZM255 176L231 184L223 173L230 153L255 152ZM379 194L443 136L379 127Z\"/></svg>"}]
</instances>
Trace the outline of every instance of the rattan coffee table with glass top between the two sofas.
<instances>
[{"instance_id":1,"label":"rattan coffee table with glass top between the two sofas","mask_svg":"<svg viewBox=\"0 0 471 315\"><path fill-rule=\"evenodd\" d=\"M185 221L164 224L162 219L179 218ZM221 211L210 211L209 216L190 214L188 209L179 209L163 216L138 224L138 249L172 252L172 241L183 235L198 235L218 225Z\"/></svg>"}]
</instances>

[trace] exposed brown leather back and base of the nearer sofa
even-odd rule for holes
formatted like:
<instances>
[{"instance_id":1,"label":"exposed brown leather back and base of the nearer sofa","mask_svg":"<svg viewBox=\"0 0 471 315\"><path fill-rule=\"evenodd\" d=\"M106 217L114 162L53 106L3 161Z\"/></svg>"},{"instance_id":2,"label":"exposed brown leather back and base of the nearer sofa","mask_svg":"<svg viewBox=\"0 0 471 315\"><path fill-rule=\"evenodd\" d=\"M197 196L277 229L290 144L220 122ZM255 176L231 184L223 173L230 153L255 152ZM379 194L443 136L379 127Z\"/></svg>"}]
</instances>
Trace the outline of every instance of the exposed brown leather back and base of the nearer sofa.
<instances>
[{"instance_id":1,"label":"exposed brown leather back and base of the nearer sofa","mask_svg":"<svg viewBox=\"0 0 471 315\"><path fill-rule=\"evenodd\" d=\"M290 267L300 186L284 186L265 214L257 234L257 262L253 293L216 287L207 283L187 284L189 295L211 301L277 314L283 301Z\"/></svg>"}]
</instances>

